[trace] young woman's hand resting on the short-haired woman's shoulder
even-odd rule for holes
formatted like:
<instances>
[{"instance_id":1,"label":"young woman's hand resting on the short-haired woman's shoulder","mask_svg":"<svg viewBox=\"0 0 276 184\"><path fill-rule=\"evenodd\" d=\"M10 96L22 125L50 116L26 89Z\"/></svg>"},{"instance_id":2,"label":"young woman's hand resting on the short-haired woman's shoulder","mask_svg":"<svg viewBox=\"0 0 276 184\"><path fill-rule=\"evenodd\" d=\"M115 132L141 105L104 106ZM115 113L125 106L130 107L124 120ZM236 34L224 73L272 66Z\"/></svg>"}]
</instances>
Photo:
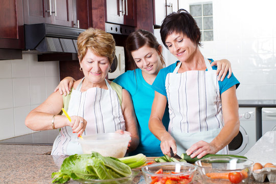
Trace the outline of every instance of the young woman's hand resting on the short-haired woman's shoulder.
<instances>
[{"instance_id":1,"label":"young woman's hand resting on the short-haired woman's shoulder","mask_svg":"<svg viewBox=\"0 0 276 184\"><path fill-rule=\"evenodd\" d=\"M218 80L223 81L228 71L229 71L229 74L227 78L231 77L232 67L231 67L230 61L228 61L227 59L221 59L211 63L211 66L214 66L214 65L218 66L217 68Z\"/></svg>"}]
</instances>

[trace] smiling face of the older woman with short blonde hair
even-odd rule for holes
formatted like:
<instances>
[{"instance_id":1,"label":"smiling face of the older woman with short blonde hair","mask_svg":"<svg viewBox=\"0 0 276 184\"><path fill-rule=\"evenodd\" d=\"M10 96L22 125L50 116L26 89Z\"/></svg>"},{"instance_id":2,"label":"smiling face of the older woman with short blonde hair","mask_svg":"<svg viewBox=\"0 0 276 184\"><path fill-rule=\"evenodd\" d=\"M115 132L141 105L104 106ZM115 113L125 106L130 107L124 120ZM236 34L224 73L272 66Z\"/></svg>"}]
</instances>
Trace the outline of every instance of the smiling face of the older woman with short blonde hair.
<instances>
[{"instance_id":1,"label":"smiling face of the older woman with short blonde hair","mask_svg":"<svg viewBox=\"0 0 276 184\"><path fill-rule=\"evenodd\" d=\"M107 57L95 55L88 49L80 65L85 78L94 84L99 84L107 76L110 64Z\"/></svg>"}]
</instances>

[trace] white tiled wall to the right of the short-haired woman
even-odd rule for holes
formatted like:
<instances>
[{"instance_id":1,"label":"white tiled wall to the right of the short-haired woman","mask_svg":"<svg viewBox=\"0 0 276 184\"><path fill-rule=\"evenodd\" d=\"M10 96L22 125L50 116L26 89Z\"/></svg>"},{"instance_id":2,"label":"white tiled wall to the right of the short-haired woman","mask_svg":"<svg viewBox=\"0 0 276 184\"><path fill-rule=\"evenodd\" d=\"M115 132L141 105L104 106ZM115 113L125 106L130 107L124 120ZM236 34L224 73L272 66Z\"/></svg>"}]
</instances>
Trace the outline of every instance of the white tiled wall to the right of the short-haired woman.
<instances>
[{"instance_id":1,"label":"white tiled wall to the right of the short-haired woman","mask_svg":"<svg viewBox=\"0 0 276 184\"><path fill-rule=\"evenodd\" d=\"M180 0L179 8L197 2L206 1ZM276 1L212 2L214 41L203 42L202 54L231 61L238 100L276 100Z\"/></svg>"}]
</instances>

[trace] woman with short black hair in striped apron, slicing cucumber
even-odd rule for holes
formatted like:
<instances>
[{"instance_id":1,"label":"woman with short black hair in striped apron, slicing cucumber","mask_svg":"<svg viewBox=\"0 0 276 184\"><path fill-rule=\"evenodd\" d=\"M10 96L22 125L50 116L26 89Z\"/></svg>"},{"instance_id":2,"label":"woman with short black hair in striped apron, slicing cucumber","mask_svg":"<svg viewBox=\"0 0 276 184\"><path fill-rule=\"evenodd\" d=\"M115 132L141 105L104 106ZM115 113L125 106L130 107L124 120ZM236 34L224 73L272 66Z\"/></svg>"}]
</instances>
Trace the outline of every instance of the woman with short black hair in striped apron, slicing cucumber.
<instances>
[{"instance_id":1,"label":"woman with short black hair in striped apron, slicing cucumber","mask_svg":"<svg viewBox=\"0 0 276 184\"><path fill-rule=\"evenodd\" d=\"M187 152L201 158L208 153L227 153L227 145L239 132L236 87L239 81L232 75L218 81L213 60L199 50L200 30L186 11L168 15L160 34L164 45L179 61L163 68L152 88L149 129L161 141L164 154ZM169 132L162 124L166 104L169 104Z\"/></svg>"}]
</instances>

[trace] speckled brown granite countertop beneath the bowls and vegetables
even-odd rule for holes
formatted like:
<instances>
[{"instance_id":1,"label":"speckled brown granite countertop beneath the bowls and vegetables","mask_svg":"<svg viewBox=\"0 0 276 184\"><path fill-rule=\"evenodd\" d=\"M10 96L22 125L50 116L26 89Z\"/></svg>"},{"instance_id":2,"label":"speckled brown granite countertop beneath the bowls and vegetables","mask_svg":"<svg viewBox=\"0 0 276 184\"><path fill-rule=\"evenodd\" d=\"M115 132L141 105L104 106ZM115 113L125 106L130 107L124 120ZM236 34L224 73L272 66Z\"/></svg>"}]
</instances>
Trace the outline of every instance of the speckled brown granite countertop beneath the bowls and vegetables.
<instances>
[{"instance_id":1,"label":"speckled brown granite countertop beneath the bowls and vegetables","mask_svg":"<svg viewBox=\"0 0 276 184\"><path fill-rule=\"evenodd\" d=\"M60 169L66 157L49 155L51 150L49 145L0 144L0 183L51 183L52 172ZM79 182L71 180L69 183ZM145 183L142 172L133 183ZM193 183L203 183L198 173ZM251 176L249 183L259 182Z\"/></svg>"}]
</instances>

